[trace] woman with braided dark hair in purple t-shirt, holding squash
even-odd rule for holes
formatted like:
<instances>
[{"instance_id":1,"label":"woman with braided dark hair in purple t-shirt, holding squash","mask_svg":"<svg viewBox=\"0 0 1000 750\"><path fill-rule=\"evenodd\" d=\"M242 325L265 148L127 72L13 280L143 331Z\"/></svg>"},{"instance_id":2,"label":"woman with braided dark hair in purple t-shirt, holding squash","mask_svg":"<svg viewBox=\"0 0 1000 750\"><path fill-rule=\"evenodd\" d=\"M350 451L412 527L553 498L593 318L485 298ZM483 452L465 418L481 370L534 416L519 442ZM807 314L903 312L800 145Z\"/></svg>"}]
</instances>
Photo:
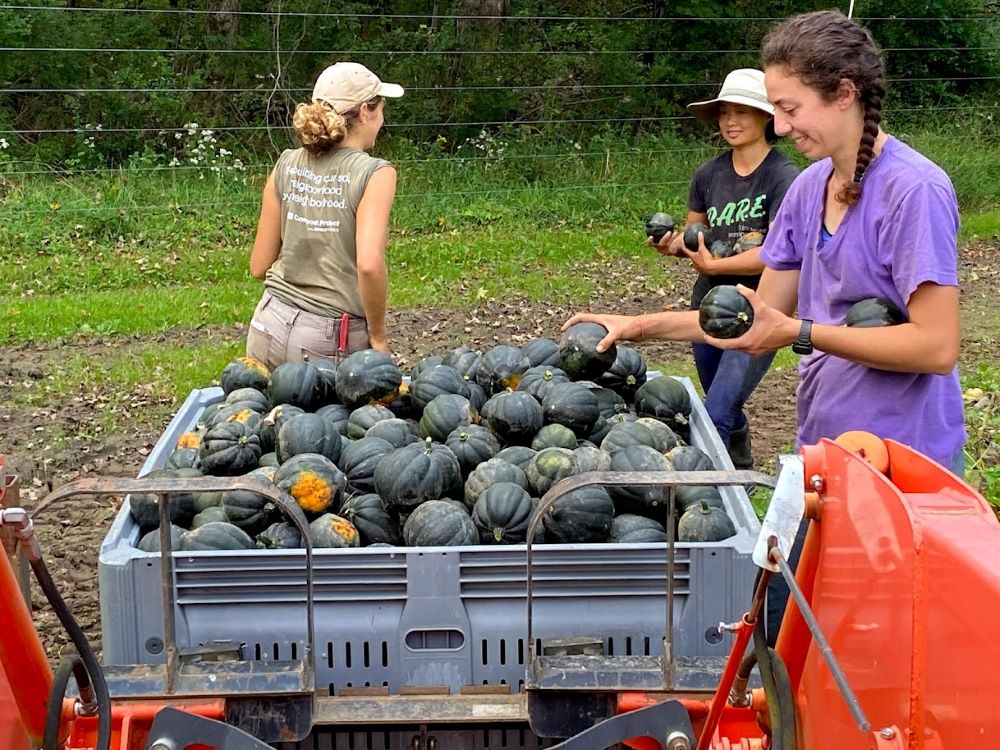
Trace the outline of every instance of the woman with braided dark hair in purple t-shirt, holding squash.
<instances>
[{"instance_id":1,"label":"woman with braided dark hair in purple t-shirt, holding squash","mask_svg":"<svg viewBox=\"0 0 1000 750\"><path fill-rule=\"evenodd\" d=\"M837 11L783 21L763 48L775 131L812 159L792 183L743 294L754 324L705 336L697 313L577 315L617 339L707 341L803 355L797 441L868 430L961 474L965 427L956 370L958 208L947 175L880 127L885 68L871 35ZM885 297L907 322L844 325L848 308ZM793 317L796 310L798 316Z\"/></svg>"}]
</instances>

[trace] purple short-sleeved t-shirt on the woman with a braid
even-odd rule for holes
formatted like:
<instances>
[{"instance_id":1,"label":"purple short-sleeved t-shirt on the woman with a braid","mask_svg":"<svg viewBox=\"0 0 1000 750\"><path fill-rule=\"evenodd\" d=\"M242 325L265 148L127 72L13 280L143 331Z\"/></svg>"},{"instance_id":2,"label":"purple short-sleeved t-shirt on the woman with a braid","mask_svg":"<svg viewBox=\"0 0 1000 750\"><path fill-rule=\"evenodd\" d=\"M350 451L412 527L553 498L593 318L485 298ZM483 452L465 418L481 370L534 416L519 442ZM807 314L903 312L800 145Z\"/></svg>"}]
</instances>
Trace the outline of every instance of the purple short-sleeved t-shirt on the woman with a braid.
<instances>
[{"instance_id":1,"label":"purple short-sleeved t-shirt on the woman with a braid","mask_svg":"<svg viewBox=\"0 0 1000 750\"><path fill-rule=\"evenodd\" d=\"M821 246L832 169L823 159L792 183L761 252L768 268L801 271L799 317L842 325L860 300L886 297L905 310L920 284L958 286L958 202L940 167L889 138L868 168L861 201ZM799 445L867 430L947 467L965 443L957 369L887 372L816 351L799 373Z\"/></svg>"}]
</instances>

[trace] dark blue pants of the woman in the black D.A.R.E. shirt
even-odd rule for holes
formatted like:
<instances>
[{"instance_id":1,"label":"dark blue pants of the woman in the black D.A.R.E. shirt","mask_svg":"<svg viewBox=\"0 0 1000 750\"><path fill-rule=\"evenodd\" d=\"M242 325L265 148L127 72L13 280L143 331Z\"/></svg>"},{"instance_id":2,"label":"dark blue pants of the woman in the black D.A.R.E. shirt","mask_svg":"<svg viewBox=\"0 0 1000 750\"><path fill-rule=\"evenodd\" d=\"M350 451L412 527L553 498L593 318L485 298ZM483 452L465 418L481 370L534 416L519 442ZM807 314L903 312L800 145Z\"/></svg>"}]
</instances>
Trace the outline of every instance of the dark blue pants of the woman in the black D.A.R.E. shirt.
<instances>
[{"instance_id":1,"label":"dark blue pants of the woman in the black D.A.R.E. shirt","mask_svg":"<svg viewBox=\"0 0 1000 750\"><path fill-rule=\"evenodd\" d=\"M743 405L771 366L774 353L752 357L746 352L717 349L709 344L692 344L698 379L705 390L705 410L715 425L723 445L729 434L746 427Z\"/></svg>"}]
</instances>

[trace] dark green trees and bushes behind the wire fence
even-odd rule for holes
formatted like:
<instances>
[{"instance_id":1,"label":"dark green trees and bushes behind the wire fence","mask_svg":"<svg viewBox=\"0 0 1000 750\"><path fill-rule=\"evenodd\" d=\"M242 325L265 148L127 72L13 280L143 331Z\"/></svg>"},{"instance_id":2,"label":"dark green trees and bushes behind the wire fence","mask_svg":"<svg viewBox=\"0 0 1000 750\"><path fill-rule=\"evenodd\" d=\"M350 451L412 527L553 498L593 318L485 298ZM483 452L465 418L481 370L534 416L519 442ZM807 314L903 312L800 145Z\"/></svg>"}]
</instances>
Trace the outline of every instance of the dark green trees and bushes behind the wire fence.
<instances>
[{"instance_id":1,"label":"dark green trees and bushes behind the wire fence","mask_svg":"<svg viewBox=\"0 0 1000 750\"><path fill-rule=\"evenodd\" d=\"M99 13L50 5L0 10L0 46L35 50L0 58L0 88L18 89L0 93L0 128L25 132L19 157L70 169L149 154L168 163L176 144L158 129L186 123L213 128L245 162L273 154L289 144L291 112L316 74L344 58L410 88L391 104L390 132L421 144L443 138L448 150L477 137L480 123L524 123L533 134L570 141L588 140L607 121L630 135L692 132L684 105L710 96L728 70L758 64L768 18L826 7L783 0L764 12L748 0L676 7L573 0L552 10L522 0L494 20L463 18L479 6L460 0L433 8L412 0L225 4L239 15L150 12L178 9L169 0L101 3L122 10ZM220 6L190 0L184 9ZM995 7L877 0L863 10L887 48L890 109L995 106ZM664 20L648 20L657 17ZM67 128L86 132L28 132Z\"/></svg>"}]
</instances>

